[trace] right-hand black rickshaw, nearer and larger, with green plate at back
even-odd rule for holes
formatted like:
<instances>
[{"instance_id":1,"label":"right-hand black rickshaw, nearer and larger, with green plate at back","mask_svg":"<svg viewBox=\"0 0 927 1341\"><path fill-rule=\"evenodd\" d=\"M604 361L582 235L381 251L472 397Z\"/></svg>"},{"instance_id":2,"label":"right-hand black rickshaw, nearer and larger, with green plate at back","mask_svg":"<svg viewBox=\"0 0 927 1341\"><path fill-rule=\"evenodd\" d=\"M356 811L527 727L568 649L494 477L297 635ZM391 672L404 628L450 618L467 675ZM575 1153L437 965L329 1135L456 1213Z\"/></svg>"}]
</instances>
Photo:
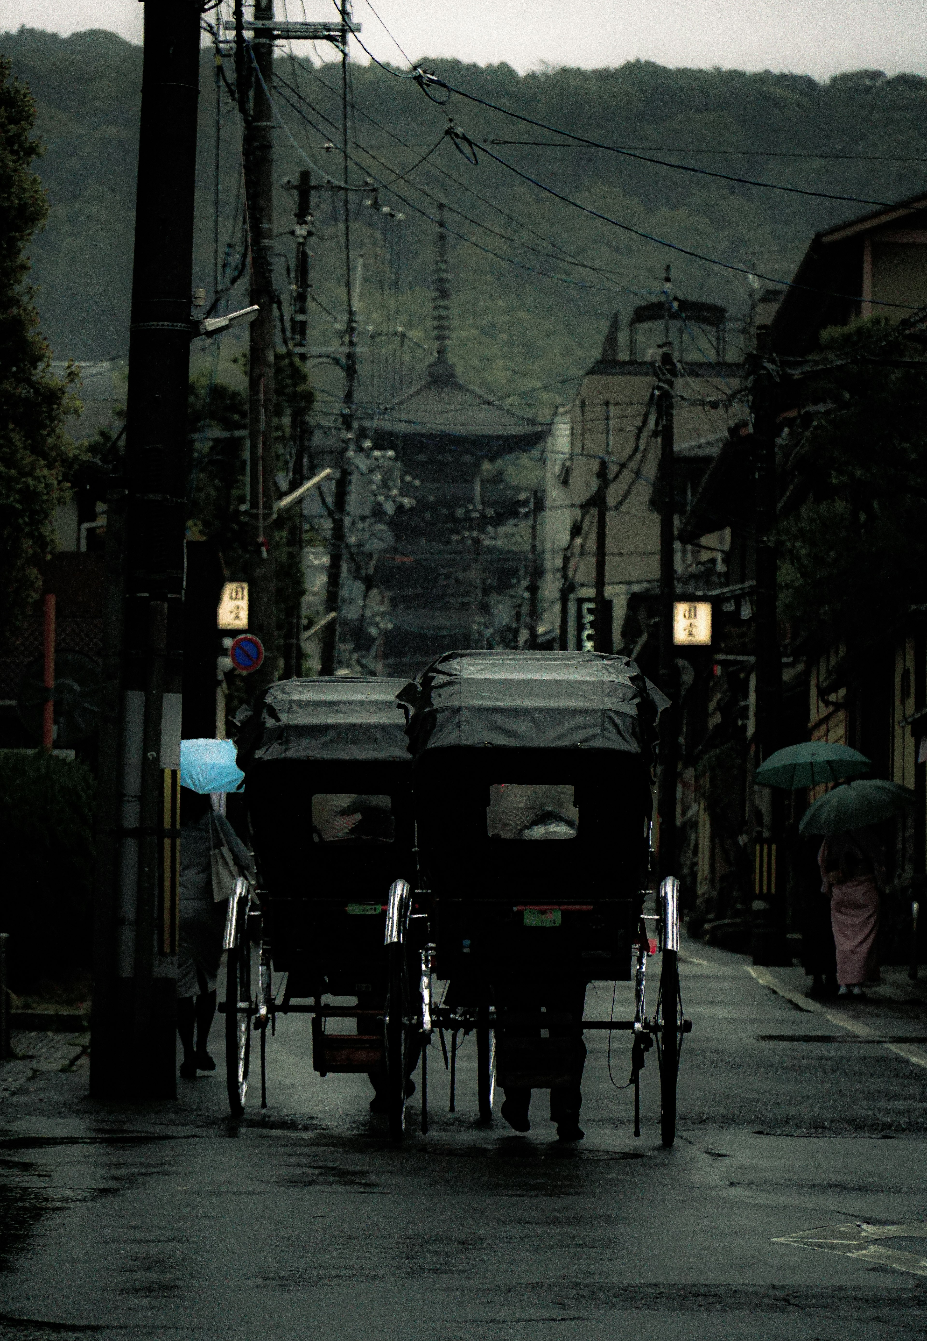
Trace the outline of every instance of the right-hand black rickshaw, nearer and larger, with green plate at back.
<instances>
[{"instance_id":1,"label":"right-hand black rickshaw, nearer and larger, with green plate at back","mask_svg":"<svg viewBox=\"0 0 927 1341\"><path fill-rule=\"evenodd\" d=\"M627 1030L635 1134L639 1075L655 1043L660 1133L671 1145L690 1027L675 878L663 880L656 915L644 913L656 719L667 700L626 657L593 652L450 652L402 697L413 708L419 898L434 967L449 980L427 1025L450 1033L451 1067L457 1034L476 1031L481 1117L492 1117L496 1077L506 1096L569 1093L583 1031ZM648 921L662 948L652 1016ZM632 1021L583 1018L588 982L632 976ZM453 1084L451 1071L451 1108ZM425 1098L422 1116L427 1129Z\"/></svg>"}]
</instances>

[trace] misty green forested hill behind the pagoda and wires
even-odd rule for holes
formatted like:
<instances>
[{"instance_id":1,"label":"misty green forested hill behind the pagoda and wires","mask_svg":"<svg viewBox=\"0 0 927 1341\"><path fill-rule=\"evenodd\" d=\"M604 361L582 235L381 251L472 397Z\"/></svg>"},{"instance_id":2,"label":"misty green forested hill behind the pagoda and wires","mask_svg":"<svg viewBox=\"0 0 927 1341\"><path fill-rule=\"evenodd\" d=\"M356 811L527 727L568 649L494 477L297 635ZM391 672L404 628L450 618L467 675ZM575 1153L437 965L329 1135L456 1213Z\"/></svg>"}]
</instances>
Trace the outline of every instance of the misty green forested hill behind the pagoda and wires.
<instances>
[{"instance_id":1,"label":"misty green forested hill behind the pagoda and wires","mask_svg":"<svg viewBox=\"0 0 927 1341\"><path fill-rule=\"evenodd\" d=\"M52 209L32 248L44 330L59 358L119 354L129 326L141 48L102 31L62 39L24 28L3 35L0 48L38 99L38 131L47 145L39 170ZM794 74L667 70L640 62L618 70L549 68L525 76L508 66L425 64L477 98L674 164L867 201L899 200L927 185L927 80L915 75L889 79L879 71L857 71L823 84ZM280 118L309 160L340 177L340 154L324 148L330 139L340 142L336 71L287 56L277 70ZM216 231L220 251L229 241L234 252L240 241L233 212L241 161L237 115L228 93L220 90L217 98L210 51L204 51L201 89L194 284L212 296ZM435 93L435 101L441 98L443 93ZM494 162L480 141L488 141L493 154L526 177L634 229L719 260L746 263L769 276L790 276L817 229L873 208L676 172L584 146L564 148L560 135L477 102L454 95L442 107L435 101L397 72L354 68L351 154L363 166L351 168L351 180L388 181L407 173L393 192L382 189L378 196L380 207L407 216L401 225L398 316L387 303L393 276L384 282L386 263L395 260L390 243L395 225L364 208L363 193L352 197L355 245L366 257L363 320L375 330L398 320L430 345L434 224L423 215L435 217L437 201L443 201L449 228L459 235L451 236L451 357L465 380L493 394L513 396L587 366L615 308L622 311L624 330L631 308L659 288L667 261L678 292L723 303L733 316L746 307L747 286L743 275L580 213ZM213 200L217 105L218 219ZM476 165L449 139L418 162L441 139L447 115L477 145ZM277 181L296 178L305 162L284 130L276 138ZM561 145L552 148L551 141ZM328 323L328 331L331 319L320 304L335 315L344 307L335 208L331 192L317 193L312 267L319 302L313 312L322 327ZM283 186L276 209L283 235L293 209ZM280 237L280 255L285 288L284 257L292 255L292 239ZM317 342L319 331L311 338ZM544 400L528 396L524 402L540 410Z\"/></svg>"}]
</instances>

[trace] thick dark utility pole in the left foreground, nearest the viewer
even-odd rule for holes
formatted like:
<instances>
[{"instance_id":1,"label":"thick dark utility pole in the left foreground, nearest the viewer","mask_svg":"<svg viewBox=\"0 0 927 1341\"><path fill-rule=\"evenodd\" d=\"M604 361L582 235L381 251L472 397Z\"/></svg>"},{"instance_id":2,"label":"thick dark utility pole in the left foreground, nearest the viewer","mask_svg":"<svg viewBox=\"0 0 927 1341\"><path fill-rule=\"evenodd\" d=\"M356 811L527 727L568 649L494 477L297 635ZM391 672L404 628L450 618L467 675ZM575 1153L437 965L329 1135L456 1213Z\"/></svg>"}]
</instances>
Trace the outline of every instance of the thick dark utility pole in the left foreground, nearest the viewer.
<instances>
[{"instance_id":1,"label":"thick dark utility pole in the left foreground, nearest the viewer","mask_svg":"<svg viewBox=\"0 0 927 1341\"><path fill-rule=\"evenodd\" d=\"M107 526L91 1093L174 1098L198 0L147 0L125 491Z\"/></svg>"}]
</instances>

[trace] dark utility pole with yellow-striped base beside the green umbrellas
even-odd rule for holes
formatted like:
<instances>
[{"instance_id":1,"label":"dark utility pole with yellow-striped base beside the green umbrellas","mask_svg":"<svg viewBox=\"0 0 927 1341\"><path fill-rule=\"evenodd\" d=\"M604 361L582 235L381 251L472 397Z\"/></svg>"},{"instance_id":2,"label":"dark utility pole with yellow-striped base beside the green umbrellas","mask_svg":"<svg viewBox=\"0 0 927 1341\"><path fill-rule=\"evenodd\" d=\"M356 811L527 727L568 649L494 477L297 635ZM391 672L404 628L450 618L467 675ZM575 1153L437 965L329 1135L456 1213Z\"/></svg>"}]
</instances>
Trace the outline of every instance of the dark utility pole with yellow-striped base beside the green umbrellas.
<instances>
[{"instance_id":1,"label":"dark utility pole with yellow-striped base beside the green umbrellas","mask_svg":"<svg viewBox=\"0 0 927 1341\"><path fill-rule=\"evenodd\" d=\"M753 764L758 768L780 747L782 717L782 650L778 636L776 554L776 384L769 369L769 327L757 329L750 412L756 461L756 727ZM792 963L786 955L785 872L780 858L782 793L756 789L753 961Z\"/></svg>"}]
</instances>

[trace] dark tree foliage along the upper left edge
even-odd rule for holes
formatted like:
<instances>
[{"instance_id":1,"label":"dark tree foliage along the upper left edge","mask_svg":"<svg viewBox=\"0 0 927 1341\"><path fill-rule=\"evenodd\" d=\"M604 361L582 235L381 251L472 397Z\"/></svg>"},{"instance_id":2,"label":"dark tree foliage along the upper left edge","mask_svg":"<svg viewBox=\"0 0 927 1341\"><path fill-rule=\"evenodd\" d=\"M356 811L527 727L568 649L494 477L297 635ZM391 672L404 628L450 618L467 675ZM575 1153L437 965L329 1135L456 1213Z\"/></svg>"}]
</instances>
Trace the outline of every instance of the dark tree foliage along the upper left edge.
<instances>
[{"instance_id":1,"label":"dark tree foliage along the upper left edge","mask_svg":"<svg viewBox=\"0 0 927 1341\"><path fill-rule=\"evenodd\" d=\"M32 170L42 153L29 134L35 101L9 78L0 56L0 620L15 622L42 590L40 565L54 548L55 508L78 449L64 436L78 409L64 381L51 375L51 350L39 333L35 290L27 283L29 239L48 201Z\"/></svg>"}]
</instances>

